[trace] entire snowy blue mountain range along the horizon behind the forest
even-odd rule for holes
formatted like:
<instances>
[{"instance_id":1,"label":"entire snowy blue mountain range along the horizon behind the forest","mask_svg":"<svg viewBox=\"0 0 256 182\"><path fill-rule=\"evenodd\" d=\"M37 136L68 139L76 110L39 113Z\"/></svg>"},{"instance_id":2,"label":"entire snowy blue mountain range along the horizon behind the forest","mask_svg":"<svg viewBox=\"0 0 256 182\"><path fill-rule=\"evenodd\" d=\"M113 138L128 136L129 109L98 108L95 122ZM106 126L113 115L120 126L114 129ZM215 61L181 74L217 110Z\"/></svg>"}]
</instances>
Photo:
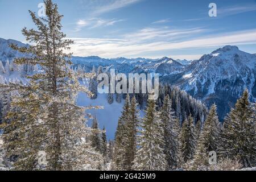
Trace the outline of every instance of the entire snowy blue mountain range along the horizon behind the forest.
<instances>
[{"instance_id":1,"label":"entire snowy blue mountain range along the horizon behind the forest","mask_svg":"<svg viewBox=\"0 0 256 182\"><path fill-rule=\"evenodd\" d=\"M0 38L0 60L3 62L22 56L11 50L9 43L28 46ZM159 73L160 81L178 86L207 106L215 103L220 119L230 111L245 88L249 89L251 101L256 101L256 54L240 51L236 46L219 48L195 61L98 56L73 56L72 61L75 67L81 65L87 72L101 65L115 68L119 73Z\"/></svg>"}]
</instances>

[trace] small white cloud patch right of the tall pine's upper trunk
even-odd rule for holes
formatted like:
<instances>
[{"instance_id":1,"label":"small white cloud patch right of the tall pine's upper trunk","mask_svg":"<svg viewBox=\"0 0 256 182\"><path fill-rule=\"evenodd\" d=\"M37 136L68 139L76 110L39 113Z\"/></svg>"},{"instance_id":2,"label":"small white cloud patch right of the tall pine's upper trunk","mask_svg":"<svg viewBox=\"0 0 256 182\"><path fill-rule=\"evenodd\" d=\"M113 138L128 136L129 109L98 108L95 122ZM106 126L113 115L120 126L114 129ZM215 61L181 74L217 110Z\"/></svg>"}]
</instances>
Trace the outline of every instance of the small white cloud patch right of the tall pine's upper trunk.
<instances>
[{"instance_id":1,"label":"small white cloud patch right of the tall pine's upper trunk","mask_svg":"<svg viewBox=\"0 0 256 182\"><path fill-rule=\"evenodd\" d=\"M106 27L113 26L117 22L123 22L123 19L102 19L102 18L90 18L86 20L78 20L76 22L75 32L80 31L83 27L88 27L89 29L96 27Z\"/></svg>"}]
</instances>

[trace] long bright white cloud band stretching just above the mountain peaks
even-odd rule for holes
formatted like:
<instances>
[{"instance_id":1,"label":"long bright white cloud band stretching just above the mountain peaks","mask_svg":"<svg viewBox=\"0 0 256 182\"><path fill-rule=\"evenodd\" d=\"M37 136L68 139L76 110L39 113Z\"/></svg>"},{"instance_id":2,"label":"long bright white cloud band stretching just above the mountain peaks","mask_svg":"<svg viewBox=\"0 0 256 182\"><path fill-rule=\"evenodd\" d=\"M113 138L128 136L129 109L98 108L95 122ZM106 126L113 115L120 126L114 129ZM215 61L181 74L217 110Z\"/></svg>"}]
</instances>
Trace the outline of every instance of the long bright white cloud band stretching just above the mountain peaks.
<instances>
[{"instance_id":1,"label":"long bright white cloud band stretching just above the mountain peaks","mask_svg":"<svg viewBox=\"0 0 256 182\"><path fill-rule=\"evenodd\" d=\"M154 53L159 51L172 51L176 49L218 47L225 46L227 44L256 44L256 30L229 32L229 34L218 34L208 37L201 37L190 40L180 40L175 42L163 39L152 39L151 42L144 42L143 39L135 39L138 39L138 36L134 36L134 38L130 36L128 38L125 35L121 39L76 38L74 39L75 44L72 46L72 52L74 52L74 55L76 56L97 55L101 57L137 57L148 55L148 53ZM182 59L180 55L179 59Z\"/></svg>"}]
</instances>

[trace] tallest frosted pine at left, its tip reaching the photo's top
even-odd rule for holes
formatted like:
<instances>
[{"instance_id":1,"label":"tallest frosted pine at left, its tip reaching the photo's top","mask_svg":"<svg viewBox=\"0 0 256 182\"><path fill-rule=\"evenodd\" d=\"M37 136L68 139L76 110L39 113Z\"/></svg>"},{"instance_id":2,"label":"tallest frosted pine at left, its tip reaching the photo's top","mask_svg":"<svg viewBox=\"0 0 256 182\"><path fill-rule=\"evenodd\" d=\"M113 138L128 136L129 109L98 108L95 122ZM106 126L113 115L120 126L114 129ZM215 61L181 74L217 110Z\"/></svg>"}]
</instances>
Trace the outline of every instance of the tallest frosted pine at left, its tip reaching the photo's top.
<instances>
[{"instance_id":1,"label":"tallest frosted pine at left, its tip reaching the photo's top","mask_svg":"<svg viewBox=\"0 0 256 182\"><path fill-rule=\"evenodd\" d=\"M32 46L11 44L20 53L31 55L15 59L15 64L38 64L43 72L28 77L27 85L0 84L1 88L19 93L7 115L11 120L5 127L9 132L4 135L4 140L9 142L5 147L11 147L7 155L18 155L14 167L20 170L79 170L88 165L93 168L101 159L86 142L90 132L85 125L84 111L89 108L76 105L80 91L90 95L78 78L93 75L78 75L70 69L71 54L63 51L73 42L64 39L65 34L61 32L63 16L51 0L44 3L46 18L37 18L30 11L38 30L22 30Z\"/></svg>"}]
</instances>

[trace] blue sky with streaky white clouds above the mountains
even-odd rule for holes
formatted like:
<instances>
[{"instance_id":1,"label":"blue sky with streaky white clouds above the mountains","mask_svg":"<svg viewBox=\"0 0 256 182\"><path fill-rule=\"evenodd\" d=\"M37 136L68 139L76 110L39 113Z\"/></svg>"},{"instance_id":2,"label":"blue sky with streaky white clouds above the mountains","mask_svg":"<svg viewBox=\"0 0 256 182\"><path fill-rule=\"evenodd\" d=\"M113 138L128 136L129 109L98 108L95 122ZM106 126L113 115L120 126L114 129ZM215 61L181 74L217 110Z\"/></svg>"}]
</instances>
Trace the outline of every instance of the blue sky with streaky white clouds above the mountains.
<instances>
[{"instance_id":1,"label":"blue sky with streaky white clouds above the mountains","mask_svg":"<svg viewBox=\"0 0 256 182\"><path fill-rule=\"evenodd\" d=\"M0 37L25 42L42 0L0 0ZM256 53L255 0L55 0L76 56L198 59L226 44ZM216 3L217 17L210 17Z\"/></svg>"}]
</instances>

